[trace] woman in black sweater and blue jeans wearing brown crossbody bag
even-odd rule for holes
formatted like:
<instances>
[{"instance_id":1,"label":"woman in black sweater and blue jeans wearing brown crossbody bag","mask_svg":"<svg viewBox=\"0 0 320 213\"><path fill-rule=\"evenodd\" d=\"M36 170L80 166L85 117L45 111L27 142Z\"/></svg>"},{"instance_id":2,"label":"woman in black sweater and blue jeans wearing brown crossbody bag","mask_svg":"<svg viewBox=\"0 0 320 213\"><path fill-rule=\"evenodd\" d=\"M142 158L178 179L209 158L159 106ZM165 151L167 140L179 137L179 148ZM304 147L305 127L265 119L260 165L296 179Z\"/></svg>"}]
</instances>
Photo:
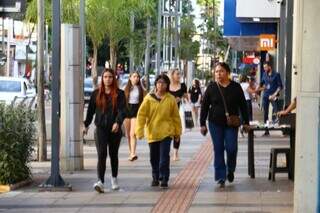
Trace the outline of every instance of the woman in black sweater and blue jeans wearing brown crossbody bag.
<instances>
[{"instance_id":1,"label":"woman in black sweater and blue jeans wearing brown crossbody bag","mask_svg":"<svg viewBox=\"0 0 320 213\"><path fill-rule=\"evenodd\" d=\"M238 127L227 124L229 116L243 116L244 130L249 128L247 103L240 84L229 79L230 68L226 63L218 63L213 71L216 82L211 82L203 96L200 113L201 133L207 133L206 120L209 114L209 131L214 146L215 180L220 187L225 180L234 180L238 151ZM222 96L223 95L223 96ZM227 110L223 101L225 99ZM224 151L227 152L227 166Z\"/></svg>"}]
</instances>

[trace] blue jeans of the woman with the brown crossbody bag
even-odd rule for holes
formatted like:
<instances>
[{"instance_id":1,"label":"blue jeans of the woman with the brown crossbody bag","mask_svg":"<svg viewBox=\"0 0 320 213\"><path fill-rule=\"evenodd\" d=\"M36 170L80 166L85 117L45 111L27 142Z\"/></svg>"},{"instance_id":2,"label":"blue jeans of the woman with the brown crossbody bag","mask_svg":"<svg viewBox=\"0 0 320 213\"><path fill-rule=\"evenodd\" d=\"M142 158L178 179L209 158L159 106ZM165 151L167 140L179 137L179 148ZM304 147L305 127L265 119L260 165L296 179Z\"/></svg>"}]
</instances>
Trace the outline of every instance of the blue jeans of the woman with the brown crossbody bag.
<instances>
[{"instance_id":1,"label":"blue jeans of the woman with the brown crossbody bag","mask_svg":"<svg viewBox=\"0 0 320 213\"><path fill-rule=\"evenodd\" d=\"M215 180L226 180L227 171L234 172L237 164L238 128L217 125L209 122L209 131L214 151ZM227 152L227 167L224 151Z\"/></svg>"}]
</instances>

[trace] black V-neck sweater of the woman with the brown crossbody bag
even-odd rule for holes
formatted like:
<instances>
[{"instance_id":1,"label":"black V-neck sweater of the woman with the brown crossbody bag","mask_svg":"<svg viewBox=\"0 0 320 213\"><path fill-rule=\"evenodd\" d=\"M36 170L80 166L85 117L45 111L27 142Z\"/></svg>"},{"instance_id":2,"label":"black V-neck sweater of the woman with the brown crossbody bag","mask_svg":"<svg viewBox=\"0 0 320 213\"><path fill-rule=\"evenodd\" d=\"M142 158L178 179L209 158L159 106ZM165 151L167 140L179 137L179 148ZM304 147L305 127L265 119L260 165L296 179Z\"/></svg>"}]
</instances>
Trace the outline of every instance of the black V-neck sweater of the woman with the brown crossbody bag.
<instances>
[{"instance_id":1,"label":"black V-neck sweater of the woman with the brown crossbody bag","mask_svg":"<svg viewBox=\"0 0 320 213\"><path fill-rule=\"evenodd\" d=\"M224 94L229 114L239 115L240 111L243 124L249 124L247 102L240 84L231 81L227 87L220 86L220 88ZM203 96L200 112L201 126L206 125L208 114L210 122L218 125L227 124L223 100L215 82L210 82Z\"/></svg>"}]
</instances>

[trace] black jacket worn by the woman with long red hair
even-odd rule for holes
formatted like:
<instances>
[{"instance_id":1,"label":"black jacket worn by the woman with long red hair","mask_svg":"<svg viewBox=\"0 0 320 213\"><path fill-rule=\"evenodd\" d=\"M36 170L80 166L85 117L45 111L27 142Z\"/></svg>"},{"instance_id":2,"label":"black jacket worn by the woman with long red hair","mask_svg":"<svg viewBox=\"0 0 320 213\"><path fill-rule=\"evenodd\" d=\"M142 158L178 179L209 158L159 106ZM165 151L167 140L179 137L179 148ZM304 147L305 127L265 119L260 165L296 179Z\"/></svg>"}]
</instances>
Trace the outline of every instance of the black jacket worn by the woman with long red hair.
<instances>
[{"instance_id":1,"label":"black jacket worn by the woman with long red hair","mask_svg":"<svg viewBox=\"0 0 320 213\"><path fill-rule=\"evenodd\" d=\"M123 120L126 117L126 98L124 92L118 89L118 97L117 97L117 107L116 110L113 111L112 103L111 103L111 96L107 96L107 107L105 112L99 109L96 105L96 98L98 95L99 90L96 89L90 97L90 102L87 111L87 117L84 121L85 127L88 127L92 120L93 116L95 116L94 123L97 127L105 128L111 130L112 125L114 123L118 123L120 126L123 123Z\"/></svg>"}]
</instances>

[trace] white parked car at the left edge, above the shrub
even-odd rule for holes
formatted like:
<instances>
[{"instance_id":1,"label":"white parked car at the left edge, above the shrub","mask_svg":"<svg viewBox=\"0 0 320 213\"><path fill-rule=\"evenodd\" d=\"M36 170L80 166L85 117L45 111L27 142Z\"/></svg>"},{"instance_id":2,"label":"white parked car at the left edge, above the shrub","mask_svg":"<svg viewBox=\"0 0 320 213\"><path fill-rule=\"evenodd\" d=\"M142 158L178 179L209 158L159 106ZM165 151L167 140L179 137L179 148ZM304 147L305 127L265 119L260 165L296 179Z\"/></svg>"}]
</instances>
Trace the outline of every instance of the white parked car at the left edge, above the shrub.
<instances>
[{"instance_id":1,"label":"white parked car at the left edge, above the shrub","mask_svg":"<svg viewBox=\"0 0 320 213\"><path fill-rule=\"evenodd\" d=\"M36 90L27 79L0 77L0 103L9 105L15 98L25 97L36 97Z\"/></svg>"}]
</instances>

